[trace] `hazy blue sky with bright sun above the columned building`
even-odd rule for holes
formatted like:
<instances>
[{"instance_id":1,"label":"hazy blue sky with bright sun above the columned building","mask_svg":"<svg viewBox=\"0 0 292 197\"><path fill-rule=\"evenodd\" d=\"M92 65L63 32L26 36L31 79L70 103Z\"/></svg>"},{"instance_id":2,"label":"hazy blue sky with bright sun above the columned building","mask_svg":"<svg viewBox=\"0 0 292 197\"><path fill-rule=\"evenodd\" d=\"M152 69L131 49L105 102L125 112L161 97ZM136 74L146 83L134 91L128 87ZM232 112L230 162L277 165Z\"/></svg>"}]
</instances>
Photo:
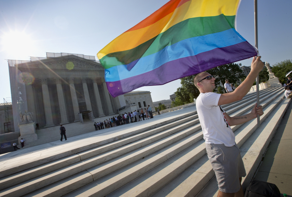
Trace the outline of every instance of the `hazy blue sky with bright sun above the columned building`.
<instances>
[{"instance_id":1,"label":"hazy blue sky with bright sun above the columned building","mask_svg":"<svg viewBox=\"0 0 292 197\"><path fill-rule=\"evenodd\" d=\"M0 103L11 97L5 59L30 60L46 52L96 53L168 0L14 1L0 0ZM291 0L258 0L258 37L262 61L271 65L292 59ZM254 45L253 0L242 0L237 31ZM251 59L241 61L249 66ZM240 62L239 62L240 63ZM180 80L137 90L151 91L153 101L169 99Z\"/></svg>"}]
</instances>

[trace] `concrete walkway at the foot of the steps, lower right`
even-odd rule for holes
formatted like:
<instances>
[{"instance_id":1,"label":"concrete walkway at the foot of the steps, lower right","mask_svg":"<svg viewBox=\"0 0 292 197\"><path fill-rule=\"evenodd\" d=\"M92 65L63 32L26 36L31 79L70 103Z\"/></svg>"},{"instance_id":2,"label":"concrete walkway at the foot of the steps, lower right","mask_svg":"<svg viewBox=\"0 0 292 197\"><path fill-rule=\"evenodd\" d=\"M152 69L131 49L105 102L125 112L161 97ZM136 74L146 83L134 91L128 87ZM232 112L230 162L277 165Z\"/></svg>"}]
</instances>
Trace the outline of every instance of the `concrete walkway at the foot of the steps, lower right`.
<instances>
[{"instance_id":1,"label":"concrete walkway at the foot of the steps, lower right","mask_svg":"<svg viewBox=\"0 0 292 197\"><path fill-rule=\"evenodd\" d=\"M272 139L254 180L276 184L292 197L292 102Z\"/></svg>"}]
</instances>

